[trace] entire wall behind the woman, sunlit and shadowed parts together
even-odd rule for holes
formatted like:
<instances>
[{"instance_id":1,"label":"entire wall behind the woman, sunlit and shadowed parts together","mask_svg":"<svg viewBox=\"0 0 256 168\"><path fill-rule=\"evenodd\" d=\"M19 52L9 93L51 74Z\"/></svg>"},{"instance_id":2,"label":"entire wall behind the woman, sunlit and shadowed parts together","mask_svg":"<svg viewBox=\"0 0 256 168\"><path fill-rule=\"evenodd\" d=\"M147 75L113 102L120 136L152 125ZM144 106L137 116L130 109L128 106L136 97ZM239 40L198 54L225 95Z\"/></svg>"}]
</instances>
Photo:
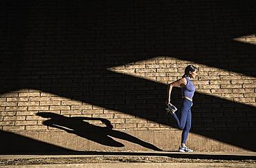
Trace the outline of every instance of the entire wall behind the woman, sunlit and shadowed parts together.
<instances>
[{"instance_id":1,"label":"entire wall behind the woman, sunlit and shadowed parts together","mask_svg":"<svg viewBox=\"0 0 256 168\"><path fill-rule=\"evenodd\" d=\"M3 134L48 137L47 143L53 143L50 134L62 140L75 134L95 143L84 150L123 147L113 138L176 149L179 131L165 112L167 83L194 64L199 76L193 80L190 145L198 151L218 151L221 144L256 151L253 1L0 4ZM174 89L172 102L179 107L180 100ZM219 143L205 149L198 140ZM65 142L54 144L81 149Z\"/></svg>"}]
</instances>

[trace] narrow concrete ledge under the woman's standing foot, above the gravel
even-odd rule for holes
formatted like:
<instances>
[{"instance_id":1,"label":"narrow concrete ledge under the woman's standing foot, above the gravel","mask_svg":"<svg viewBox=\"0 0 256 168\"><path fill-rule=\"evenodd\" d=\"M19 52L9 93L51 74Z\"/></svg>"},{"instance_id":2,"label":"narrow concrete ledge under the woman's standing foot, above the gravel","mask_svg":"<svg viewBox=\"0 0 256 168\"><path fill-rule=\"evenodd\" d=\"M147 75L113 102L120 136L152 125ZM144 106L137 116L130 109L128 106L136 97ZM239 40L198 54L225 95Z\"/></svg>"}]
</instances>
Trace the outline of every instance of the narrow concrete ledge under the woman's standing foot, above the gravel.
<instances>
[{"instance_id":1,"label":"narrow concrete ledge under the woman's standing foot, above the gravel","mask_svg":"<svg viewBox=\"0 0 256 168\"><path fill-rule=\"evenodd\" d=\"M243 152L243 153L221 153L221 152L193 152L193 153L180 153L180 152L129 152L129 151L81 151L73 154L37 154L37 155L0 155L1 159L15 159L15 158L87 158L87 157L113 157L113 156L163 156L169 158L191 158L191 159L212 159L212 160L256 160L256 152Z\"/></svg>"}]
</instances>

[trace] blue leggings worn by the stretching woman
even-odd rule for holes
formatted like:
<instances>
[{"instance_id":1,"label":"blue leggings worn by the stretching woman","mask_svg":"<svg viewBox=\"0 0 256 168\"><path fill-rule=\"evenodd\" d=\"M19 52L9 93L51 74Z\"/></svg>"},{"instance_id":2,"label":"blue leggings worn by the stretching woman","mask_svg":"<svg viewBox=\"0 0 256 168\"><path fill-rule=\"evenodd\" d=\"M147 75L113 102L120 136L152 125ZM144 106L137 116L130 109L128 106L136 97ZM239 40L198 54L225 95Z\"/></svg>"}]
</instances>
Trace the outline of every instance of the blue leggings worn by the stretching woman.
<instances>
[{"instance_id":1,"label":"blue leggings worn by the stretching woman","mask_svg":"<svg viewBox=\"0 0 256 168\"><path fill-rule=\"evenodd\" d=\"M181 143L185 143L188 138L188 132L190 132L191 128L191 107L193 103L186 98L183 98L182 107L181 107L181 120L179 120L178 116L174 113L174 119L177 122L179 129L182 129L183 132L181 134Z\"/></svg>"}]
</instances>

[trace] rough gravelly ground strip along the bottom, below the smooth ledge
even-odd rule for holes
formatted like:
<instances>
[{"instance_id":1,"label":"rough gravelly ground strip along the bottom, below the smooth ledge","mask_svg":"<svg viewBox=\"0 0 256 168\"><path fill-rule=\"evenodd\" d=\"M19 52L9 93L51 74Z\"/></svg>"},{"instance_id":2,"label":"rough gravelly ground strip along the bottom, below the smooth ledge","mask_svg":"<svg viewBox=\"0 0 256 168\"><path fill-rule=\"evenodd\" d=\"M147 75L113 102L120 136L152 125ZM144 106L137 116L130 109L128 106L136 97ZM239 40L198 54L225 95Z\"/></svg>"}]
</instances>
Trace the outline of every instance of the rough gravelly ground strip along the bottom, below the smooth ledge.
<instances>
[{"instance_id":1,"label":"rough gravelly ground strip along the bottom, below the smooth ledge","mask_svg":"<svg viewBox=\"0 0 256 168\"><path fill-rule=\"evenodd\" d=\"M53 165L75 163L115 163L115 162L147 162L147 163L250 163L256 160L214 160L171 158L167 156L89 156L89 157L49 157L49 158L0 158L0 166L4 165Z\"/></svg>"}]
</instances>

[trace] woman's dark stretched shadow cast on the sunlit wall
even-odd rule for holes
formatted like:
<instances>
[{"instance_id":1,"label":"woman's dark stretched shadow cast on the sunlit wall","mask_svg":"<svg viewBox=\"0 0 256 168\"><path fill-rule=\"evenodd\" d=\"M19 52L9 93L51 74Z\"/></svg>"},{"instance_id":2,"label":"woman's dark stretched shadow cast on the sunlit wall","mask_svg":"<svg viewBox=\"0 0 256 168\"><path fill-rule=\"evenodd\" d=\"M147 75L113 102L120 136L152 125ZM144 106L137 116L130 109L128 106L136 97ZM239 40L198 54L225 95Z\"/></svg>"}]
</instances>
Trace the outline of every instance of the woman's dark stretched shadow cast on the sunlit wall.
<instances>
[{"instance_id":1,"label":"woman's dark stretched shadow cast on the sunlit wall","mask_svg":"<svg viewBox=\"0 0 256 168\"><path fill-rule=\"evenodd\" d=\"M37 113L37 116L49 118L43 122L44 125L62 129L68 133L76 134L77 136L86 138L88 140L93 140L95 143L100 143L101 145L107 145L110 147L124 147L125 145L113 139L119 138L122 140L127 140L131 143L136 143L148 149L162 151L162 149L159 149L155 145L146 143L139 138L131 136L125 132L113 130L113 126L111 125L110 121L105 118L66 117L51 112L39 112ZM104 125L106 125L106 127L92 125L84 120L100 120L102 123L104 123Z\"/></svg>"}]
</instances>

